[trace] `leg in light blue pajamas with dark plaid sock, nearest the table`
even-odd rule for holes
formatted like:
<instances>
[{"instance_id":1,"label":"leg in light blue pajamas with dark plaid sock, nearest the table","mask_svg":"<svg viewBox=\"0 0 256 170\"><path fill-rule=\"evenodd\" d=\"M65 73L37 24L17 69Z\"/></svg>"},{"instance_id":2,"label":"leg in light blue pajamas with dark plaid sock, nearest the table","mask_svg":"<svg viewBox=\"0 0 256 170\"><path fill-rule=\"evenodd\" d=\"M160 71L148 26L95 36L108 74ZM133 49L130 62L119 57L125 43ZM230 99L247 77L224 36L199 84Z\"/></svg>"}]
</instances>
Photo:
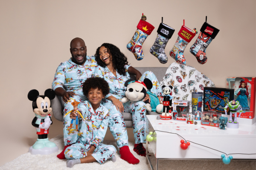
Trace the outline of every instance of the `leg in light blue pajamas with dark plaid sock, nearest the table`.
<instances>
[{"instance_id":1,"label":"leg in light blue pajamas with dark plaid sock, nearest the table","mask_svg":"<svg viewBox=\"0 0 256 170\"><path fill-rule=\"evenodd\" d=\"M143 143L146 142L146 104L142 101L138 101L126 102L123 105L125 112L132 113L135 140L134 151L140 156L145 156L146 150L143 147Z\"/></svg>"}]
</instances>

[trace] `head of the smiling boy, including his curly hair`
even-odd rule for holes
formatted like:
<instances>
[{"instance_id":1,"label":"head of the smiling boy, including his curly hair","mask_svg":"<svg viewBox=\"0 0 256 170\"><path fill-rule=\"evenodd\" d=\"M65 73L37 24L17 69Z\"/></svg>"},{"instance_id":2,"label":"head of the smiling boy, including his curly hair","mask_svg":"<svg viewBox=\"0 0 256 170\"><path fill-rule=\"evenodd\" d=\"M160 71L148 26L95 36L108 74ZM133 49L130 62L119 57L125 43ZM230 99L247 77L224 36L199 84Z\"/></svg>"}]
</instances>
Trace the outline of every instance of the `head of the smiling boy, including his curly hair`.
<instances>
[{"instance_id":1,"label":"head of the smiling boy, including his curly hair","mask_svg":"<svg viewBox=\"0 0 256 170\"><path fill-rule=\"evenodd\" d=\"M91 77L83 84L83 93L92 105L99 105L109 93L108 82L100 77Z\"/></svg>"}]
</instances>

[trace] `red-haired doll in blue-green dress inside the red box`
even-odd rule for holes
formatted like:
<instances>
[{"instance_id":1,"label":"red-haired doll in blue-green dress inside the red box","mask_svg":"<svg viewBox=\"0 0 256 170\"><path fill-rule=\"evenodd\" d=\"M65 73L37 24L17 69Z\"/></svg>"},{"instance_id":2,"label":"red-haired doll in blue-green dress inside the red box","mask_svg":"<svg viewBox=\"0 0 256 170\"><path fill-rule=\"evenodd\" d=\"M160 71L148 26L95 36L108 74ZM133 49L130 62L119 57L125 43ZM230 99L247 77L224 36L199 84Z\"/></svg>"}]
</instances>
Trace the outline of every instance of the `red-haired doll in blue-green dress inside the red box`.
<instances>
[{"instance_id":1,"label":"red-haired doll in blue-green dress inside the red box","mask_svg":"<svg viewBox=\"0 0 256 170\"><path fill-rule=\"evenodd\" d=\"M239 89L235 91L235 95L238 96L236 101L240 103L243 110L250 109L247 101L247 96L250 97L250 94L248 93L247 82L241 80Z\"/></svg>"}]
</instances>

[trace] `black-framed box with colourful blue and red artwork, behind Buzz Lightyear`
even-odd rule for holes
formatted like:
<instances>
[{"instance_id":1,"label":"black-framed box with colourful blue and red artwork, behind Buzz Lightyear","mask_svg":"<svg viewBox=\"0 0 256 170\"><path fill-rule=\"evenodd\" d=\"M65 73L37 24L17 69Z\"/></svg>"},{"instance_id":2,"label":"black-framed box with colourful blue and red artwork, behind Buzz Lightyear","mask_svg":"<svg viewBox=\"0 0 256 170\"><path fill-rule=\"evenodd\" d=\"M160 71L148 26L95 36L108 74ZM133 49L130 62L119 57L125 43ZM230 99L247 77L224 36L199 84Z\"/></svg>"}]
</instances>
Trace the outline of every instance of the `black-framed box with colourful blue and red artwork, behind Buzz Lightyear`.
<instances>
[{"instance_id":1,"label":"black-framed box with colourful blue and red artwork, behind Buzz Lightyear","mask_svg":"<svg viewBox=\"0 0 256 170\"><path fill-rule=\"evenodd\" d=\"M204 87L203 111L216 111L224 113L228 102L234 99L234 89ZM229 114L230 111L228 111Z\"/></svg>"}]
</instances>

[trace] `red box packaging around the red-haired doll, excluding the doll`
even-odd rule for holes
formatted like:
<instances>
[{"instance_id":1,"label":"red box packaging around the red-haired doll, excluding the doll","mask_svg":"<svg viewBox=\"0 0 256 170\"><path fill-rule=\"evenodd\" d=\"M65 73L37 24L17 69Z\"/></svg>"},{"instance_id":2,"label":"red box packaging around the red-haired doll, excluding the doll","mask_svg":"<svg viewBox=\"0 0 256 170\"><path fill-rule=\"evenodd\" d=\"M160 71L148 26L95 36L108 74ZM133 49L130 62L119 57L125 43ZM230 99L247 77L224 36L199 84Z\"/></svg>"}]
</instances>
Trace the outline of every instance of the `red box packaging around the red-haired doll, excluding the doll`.
<instances>
[{"instance_id":1,"label":"red box packaging around the red-haired doll, excluding the doll","mask_svg":"<svg viewBox=\"0 0 256 170\"><path fill-rule=\"evenodd\" d=\"M239 91L239 85L240 82L244 81L247 84L247 93L249 94L248 96L245 96L245 100L247 100L248 107L250 109L244 109L243 104L244 102L241 103L241 96L239 97L238 91ZM235 89L235 96L234 99L237 100L240 103L240 105L243 108L243 113L241 114L240 118L245 118L245 119L253 119L255 117L255 93L256 93L256 77L231 77L227 78L227 87L228 88L233 88ZM240 92L241 94L241 92ZM237 115L239 116L239 114Z\"/></svg>"}]
</instances>

